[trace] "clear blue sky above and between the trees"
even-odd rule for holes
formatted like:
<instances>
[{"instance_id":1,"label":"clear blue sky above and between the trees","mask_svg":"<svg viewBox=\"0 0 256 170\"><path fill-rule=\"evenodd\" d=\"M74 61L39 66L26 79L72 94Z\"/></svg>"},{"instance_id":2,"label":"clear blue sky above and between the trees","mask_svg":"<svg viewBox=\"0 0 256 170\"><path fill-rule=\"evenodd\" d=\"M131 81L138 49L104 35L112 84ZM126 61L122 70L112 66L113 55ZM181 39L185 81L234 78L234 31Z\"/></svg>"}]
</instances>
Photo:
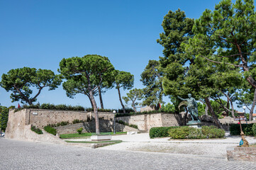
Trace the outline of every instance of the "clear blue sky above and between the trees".
<instances>
[{"instance_id":1,"label":"clear blue sky above and between the trees","mask_svg":"<svg viewBox=\"0 0 256 170\"><path fill-rule=\"evenodd\" d=\"M57 73L62 58L97 54L108 57L116 69L134 74L135 87L143 88L140 74L148 60L162 56L156 40L168 11L181 8L187 17L199 18L218 2L0 0L0 75L21 67ZM127 92L121 91L123 96ZM9 96L0 88L1 105L17 106ZM103 100L105 108L121 108L116 89L106 91ZM90 107L87 96L68 98L62 86L55 91L43 89L38 101ZM97 97L96 102L100 106Z\"/></svg>"}]
</instances>

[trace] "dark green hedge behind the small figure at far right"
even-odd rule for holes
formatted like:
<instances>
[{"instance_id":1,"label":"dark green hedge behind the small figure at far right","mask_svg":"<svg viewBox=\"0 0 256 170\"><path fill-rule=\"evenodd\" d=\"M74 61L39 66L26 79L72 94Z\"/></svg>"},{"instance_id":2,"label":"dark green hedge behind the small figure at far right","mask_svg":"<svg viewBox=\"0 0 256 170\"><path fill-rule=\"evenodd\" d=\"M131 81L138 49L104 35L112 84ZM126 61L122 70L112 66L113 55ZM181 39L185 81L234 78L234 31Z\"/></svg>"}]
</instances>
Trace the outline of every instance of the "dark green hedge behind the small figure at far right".
<instances>
[{"instance_id":1,"label":"dark green hedge behind the small figure at far right","mask_svg":"<svg viewBox=\"0 0 256 170\"><path fill-rule=\"evenodd\" d=\"M252 123L251 124L241 124L243 132L247 136L253 136L253 131L252 131ZM232 124L230 125L230 135L240 135L240 125L238 124Z\"/></svg>"}]
</instances>

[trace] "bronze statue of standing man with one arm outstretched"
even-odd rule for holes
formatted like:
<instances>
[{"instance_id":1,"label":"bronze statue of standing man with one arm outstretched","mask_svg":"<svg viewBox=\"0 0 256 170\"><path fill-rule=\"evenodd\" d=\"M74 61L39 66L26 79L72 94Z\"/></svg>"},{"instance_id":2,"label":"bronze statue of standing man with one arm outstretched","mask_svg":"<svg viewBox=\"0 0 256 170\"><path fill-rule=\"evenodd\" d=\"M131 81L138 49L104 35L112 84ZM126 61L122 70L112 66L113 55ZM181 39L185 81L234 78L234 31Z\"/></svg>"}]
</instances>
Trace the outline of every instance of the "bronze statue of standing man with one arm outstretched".
<instances>
[{"instance_id":1,"label":"bronze statue of standing man with one arm outstretched","mask_svg":"<svg viewBox=\"0 0 256 170\"><path fill-rule=\"evenodd\" d=\"M187 108L188 111L191 115L191 118L193 121L197 120L197 122L200 122L199 120L199 112L197 109L197 103L196 103L196 99L191 97L191 94L188 94L189 98L181 98L178 96L179 99L181 99L182 101L187 101Z\"/></svg>"}]
</instances>

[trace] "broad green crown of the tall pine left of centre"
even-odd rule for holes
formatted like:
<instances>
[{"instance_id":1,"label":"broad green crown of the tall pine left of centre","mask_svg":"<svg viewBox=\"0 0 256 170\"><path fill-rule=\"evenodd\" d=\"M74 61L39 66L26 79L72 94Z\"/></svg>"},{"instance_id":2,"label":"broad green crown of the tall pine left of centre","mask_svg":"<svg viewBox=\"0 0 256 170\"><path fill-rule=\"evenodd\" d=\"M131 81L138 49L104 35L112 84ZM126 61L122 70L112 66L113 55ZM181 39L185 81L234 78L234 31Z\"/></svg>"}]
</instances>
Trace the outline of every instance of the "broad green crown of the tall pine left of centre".
<instances>
[{"instance_id":1,"label":"broad green crown of the tall pine left of centre","mask_svg":"<svg viewBox=\"0 0 256 170\"><path fill-rule=\"evenodd\" d=\"M62 86L68 97L85 94L90 98L91 92L95 95L99 86L105 86L113 69L108 57L85 55L62 59L58 71L67 79Z\"/></svg>"}]
</instances>

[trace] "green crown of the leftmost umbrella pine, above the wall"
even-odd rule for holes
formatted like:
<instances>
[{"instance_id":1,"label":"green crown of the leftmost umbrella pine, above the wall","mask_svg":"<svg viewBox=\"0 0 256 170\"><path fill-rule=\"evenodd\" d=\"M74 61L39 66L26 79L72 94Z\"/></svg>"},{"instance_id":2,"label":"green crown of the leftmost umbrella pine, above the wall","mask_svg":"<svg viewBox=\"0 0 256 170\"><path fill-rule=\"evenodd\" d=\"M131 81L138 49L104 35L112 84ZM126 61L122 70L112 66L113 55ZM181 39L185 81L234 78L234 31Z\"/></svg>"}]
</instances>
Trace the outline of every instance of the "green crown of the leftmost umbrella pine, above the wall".
<instances>
[{"instance_id":1,"label":"green crown of the leftmost umbrella pine, above the wall","mask_svg":"<svg viewBox=\"0 0 256 170\"><path fill-rule=\"evenodd\" d=\"M32 104L37 100L41 90L49 87L49 90L54 90L61 84L60 75L55 75L49 69L35 69L23 67L20 69L11 69L7 74L1 77L0 86L11 91L11 99L14 101L21 101L21 103ZM35 96L31 87L38 89Z\"/></svg>"}]
</instances>

